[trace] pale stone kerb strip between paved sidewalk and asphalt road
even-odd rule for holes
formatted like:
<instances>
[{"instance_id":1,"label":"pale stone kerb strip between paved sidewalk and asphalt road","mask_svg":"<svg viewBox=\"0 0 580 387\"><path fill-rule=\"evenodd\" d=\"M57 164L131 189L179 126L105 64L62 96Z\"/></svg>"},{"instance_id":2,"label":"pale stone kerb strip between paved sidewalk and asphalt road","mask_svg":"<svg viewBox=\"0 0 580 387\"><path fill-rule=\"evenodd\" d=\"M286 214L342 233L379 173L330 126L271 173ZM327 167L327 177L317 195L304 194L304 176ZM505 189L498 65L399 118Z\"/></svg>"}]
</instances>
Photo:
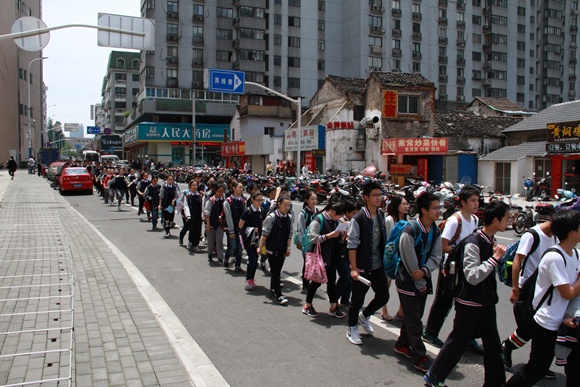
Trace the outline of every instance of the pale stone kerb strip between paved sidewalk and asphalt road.
<instances>
[{"instance_id":1,"label":"pale stone kerb strip between paved sidewalk and asphalt road","mask_svg":"<svg viewBox=\"0 0 580 387\"><path fill-rule=\"evenodd\" d=\"M66 202L66 201L65 201ZM67 202L68 204L68 202ZM109 241L95 226L93 226L74 207L68 204L87 223L93 231L107 244L109 249L115 254L119 262L123 265L133 283L137 286L139 293L147 302L149 309L155 315L157 322L169 339L173 350L185 368L191 382L199 387L229 387L218 369L203 352L197 342L191 337L187 329L183 326L179 318L173 313L163 297L157 292L155 287L137 269L127 256L125 256L111 241Z\"/></svg>"}]
</instances>

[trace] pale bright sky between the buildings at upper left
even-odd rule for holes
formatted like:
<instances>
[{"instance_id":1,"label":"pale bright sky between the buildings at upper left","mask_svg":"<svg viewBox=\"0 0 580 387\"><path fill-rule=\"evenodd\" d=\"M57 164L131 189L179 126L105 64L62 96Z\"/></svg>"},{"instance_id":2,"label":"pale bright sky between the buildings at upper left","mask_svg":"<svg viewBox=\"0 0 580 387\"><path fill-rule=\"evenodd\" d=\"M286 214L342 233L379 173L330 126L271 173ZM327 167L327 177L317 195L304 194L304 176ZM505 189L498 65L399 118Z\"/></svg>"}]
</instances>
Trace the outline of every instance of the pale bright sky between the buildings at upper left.
<instances>
[{"instance_id":1,"label":"pale bright sky between the buildings at upper left","mask_svg":"<svg viewBox=\"0 0 580 387\"><path fill-rule=\"evenodd\" d=\"M140 16L139 0L48 0L42 6L42 20L48 27L72 23L96 26L99 13ZM90 106L101 102L101 86L112 50L124 49L97 46L96 29L75 27L50 32L50 42L43 51L48 57L43 62L49 118L83 124L85 132L87 126L94 126Z\"/></svg>"}]
</instances>

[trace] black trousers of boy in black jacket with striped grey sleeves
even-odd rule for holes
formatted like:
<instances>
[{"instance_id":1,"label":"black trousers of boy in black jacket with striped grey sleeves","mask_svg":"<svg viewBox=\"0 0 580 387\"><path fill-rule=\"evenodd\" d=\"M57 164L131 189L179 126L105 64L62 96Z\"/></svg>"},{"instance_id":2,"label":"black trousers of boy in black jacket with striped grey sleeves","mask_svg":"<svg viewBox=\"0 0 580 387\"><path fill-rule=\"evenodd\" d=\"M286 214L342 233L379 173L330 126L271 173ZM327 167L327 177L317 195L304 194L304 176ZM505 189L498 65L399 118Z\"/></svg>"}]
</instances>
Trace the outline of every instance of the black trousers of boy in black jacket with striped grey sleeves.
<instances>
[{"instance_id":1,"label":"black trousers of boy in black jacket with striped grey sleeves","mask_svg":"<svg viewBox=\"0 0 580 387\"><path fill-rule=\"evenodd\" d=\"M495 305L473 307L455 302L453 331L447 337L445 345L429 369L429 375L438 382L445 381L467 349L475 327L481 333L483 341L483 367L485 370L483 385L485 387L504 385L505 371L501 359L501 340L497 332ZM554 343L552 343L553 353ZM544 372L542 377L545 374Z\"/></svg>"}]
</instances>

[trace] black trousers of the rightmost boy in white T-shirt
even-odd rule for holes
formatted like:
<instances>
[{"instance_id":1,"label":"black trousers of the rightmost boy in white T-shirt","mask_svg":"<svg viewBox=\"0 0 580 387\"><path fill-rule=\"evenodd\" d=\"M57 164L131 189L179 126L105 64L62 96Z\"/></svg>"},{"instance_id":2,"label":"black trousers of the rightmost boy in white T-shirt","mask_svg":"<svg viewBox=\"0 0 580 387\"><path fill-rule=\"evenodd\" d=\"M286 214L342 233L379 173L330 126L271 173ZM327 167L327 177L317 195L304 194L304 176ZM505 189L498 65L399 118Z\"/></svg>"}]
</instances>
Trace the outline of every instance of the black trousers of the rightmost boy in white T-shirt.
<instances>
[{"instance_id":1,"label":"black trousers of the rightmost boy in white T-shirt","mask_svg":"<svg viewBox=\"0 0 580 387\"><path fill-rule=\"evenodd\" d=\"M527 364L520 367L518 372L516 372L514 376L508 380L508 382L505 384L506 387L533 386L546 375L546 371L550 369L550 366L554 361L555 345L558 332L542 328L535 321L533 325L534 328L532 334L532 351L530 352L530 360L528 360ZM568 363L570 363L570 359L568 359ZM578 363L576 363L574 366L578 368ZM575 380L574 385L578 385L577 379Z\"/></svg>"}]
</instances>

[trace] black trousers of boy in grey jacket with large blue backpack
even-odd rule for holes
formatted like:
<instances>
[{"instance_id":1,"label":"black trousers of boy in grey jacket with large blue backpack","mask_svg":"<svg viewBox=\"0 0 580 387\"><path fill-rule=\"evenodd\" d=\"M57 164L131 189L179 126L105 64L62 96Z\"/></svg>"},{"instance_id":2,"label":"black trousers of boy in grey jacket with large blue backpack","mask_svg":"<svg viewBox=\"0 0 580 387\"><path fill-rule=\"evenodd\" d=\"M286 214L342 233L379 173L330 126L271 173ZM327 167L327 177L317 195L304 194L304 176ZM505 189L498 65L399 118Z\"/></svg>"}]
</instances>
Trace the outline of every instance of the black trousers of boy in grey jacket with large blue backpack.
<instances>
[{"instance_id":1,"label":"black trousers of boy in grey jacket with large blue backpack","mask_svg":"<svg viewBox=\"0 0 580 387\"><path fill-rule=\"evenodd\" d=\"M399 294L399 301L403 308L403 324L401 324L401 333L397 339L397 347L413 348L415 362L420 362L427 356L427 349L423 344L423 313L425 312L425 303L427 295L407 296Z\"/></svg>"}]
</instances>

